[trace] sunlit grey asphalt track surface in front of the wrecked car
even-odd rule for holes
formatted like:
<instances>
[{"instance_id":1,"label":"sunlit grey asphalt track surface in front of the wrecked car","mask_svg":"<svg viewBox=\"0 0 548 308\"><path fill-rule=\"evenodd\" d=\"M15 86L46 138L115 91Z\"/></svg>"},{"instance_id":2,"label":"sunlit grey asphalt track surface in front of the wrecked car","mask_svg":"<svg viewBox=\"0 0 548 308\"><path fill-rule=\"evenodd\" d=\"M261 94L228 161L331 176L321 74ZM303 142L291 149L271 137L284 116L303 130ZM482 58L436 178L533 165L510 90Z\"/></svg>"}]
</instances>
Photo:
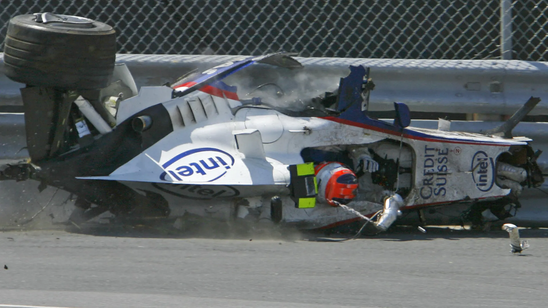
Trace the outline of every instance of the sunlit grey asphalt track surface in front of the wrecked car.
<instances>
[{"instance_id":1,"label":"sunlit grey asphalt track surface in front of the wrecked car","mask_svg":"<svg viewBox=\"0 0 548 308\"><path fill-rule=\"evenodd\" d=\"M292 237L0 232L0 307L545 307L548 230ZM306 235L304 237L307 237ZM1 269L3 265L8 269Z\"/></svg>"}]
</instances>

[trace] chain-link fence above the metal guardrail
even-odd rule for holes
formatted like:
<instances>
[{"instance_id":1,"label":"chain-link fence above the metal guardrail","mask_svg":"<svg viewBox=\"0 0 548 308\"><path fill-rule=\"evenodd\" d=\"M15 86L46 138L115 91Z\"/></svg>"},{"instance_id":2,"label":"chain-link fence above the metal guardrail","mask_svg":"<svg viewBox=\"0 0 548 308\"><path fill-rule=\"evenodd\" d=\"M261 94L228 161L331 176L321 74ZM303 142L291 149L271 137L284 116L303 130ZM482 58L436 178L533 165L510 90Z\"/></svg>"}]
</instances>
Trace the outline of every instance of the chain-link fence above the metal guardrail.
<instances>
[{"instance_id":1,"label":"chain-link fence above the metal guardrail","mask_svg":"<svg viewBox=\"0 0 548 308\"><path fill-rule=\"evenodd\" d=\"M52 12L113 26L119 53L499 59L504 1L512 58L548 60L546 0L0 0L0 40Z\"/></svg>"}]
</instances>

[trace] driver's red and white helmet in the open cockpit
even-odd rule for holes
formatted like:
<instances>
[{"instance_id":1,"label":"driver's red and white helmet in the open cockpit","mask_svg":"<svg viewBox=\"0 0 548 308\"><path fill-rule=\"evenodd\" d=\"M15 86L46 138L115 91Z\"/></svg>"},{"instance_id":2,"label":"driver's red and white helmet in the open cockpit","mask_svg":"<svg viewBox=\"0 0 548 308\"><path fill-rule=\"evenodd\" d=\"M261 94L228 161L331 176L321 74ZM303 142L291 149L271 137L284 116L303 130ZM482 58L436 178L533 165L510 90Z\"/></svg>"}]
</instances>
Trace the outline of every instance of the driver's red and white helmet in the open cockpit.
<instances>
[{"instance_id":1,"label":"driver's red and white helmet in the open cockpit","mask_svg":"<svg viewBox=\"0 0 548 308\"><path fill-rule=\"evenodd\" d=\"M346 204L356 197L358 178L352 170L337 162L324 162L314 169L318 181L319 202L336 207L338 203Z\"/></svg>"}]
</instances>

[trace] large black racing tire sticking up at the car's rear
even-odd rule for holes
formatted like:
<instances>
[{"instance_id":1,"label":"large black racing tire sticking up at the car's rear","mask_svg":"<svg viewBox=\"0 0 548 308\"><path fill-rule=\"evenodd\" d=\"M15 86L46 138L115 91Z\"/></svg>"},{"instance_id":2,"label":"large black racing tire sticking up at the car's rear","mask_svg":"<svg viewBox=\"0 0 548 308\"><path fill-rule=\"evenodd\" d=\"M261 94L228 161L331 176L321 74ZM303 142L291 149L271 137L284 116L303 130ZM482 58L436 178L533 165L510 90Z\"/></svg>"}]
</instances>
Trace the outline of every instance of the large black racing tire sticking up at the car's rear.
<instances>
[{"instance_id":1,"label":"large black racing tire sticking up at the car's rear","mask_svg":"<svg viewBox=\"0 0 548 308\"><path fill-rule=\"evenodd\" d=\"M15 16L4 41L5 75L41 87L106 87L116 60L116 31L99 21L86 26Z\"/></svg>"}]
</instances>

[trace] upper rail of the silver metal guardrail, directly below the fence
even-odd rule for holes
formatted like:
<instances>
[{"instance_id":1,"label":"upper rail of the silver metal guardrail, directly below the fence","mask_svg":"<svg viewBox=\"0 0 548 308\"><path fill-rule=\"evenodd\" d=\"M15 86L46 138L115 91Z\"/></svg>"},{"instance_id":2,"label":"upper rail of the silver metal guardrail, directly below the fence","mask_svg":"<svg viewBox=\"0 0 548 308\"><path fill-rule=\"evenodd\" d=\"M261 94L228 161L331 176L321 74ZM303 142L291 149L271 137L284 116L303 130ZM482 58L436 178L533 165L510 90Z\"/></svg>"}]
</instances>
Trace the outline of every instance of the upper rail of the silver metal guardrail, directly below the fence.
<instances>
[{"instance_id":1,"label":"upper rail of the silver metal guardrail, directly below the fence","mask_svg":"<svg viewBox=\"0 0 548 308\"><path fill-rule=\"evenodd\" d=\"M241 58L227 55L118 54L116 60L128 65L138 87L141 87L161 85L193 69L207 69ZM276 78L282 88L288 89L295 87L296 83L291 80L299 78L301 85L320 93L335 89L339 78L349 72L349 65L361 64L371 67L376 84L370 98L370 110L392 110L393 102L400 101L408 104L412 111L511 115L533 95L542 101L531 114L548 115L548 62L296 59L304 69L289 71L265 65L252 70L251 76L258 80ZM0 105L20 105L19 88L24 85L10 81L1 72L3 60L0 60ZM326 85L333 88L326 88Z\"/></svg>"}]
</instances>

